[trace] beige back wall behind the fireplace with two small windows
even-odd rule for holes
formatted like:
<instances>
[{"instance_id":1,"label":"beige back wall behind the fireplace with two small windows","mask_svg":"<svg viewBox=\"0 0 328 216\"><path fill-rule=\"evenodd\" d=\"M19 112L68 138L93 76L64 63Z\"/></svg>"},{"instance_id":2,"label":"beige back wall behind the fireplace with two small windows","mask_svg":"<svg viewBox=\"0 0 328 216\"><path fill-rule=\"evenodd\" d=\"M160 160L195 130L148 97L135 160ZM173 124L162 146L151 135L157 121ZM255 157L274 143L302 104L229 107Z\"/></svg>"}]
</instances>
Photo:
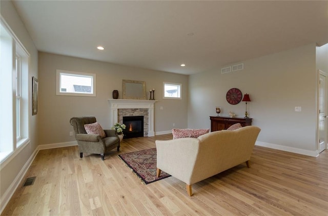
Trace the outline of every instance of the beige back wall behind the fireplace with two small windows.
<instances>
[{"instance_id":1,"label":"beige back wall behind the fireplace with two small windows","mask_svg":"<svg viewBox=\"0 0 328 216\"><path fill-rule=\"evenodd\" d=\"M119 91L122 98L122 79L146 82L149 89L155 88L155 133L167 133L173 128L187 127L188 76L149 69L121 66L81 58L49 53L39 53L39 143L54 144L74 141L69 119L73 116L95 115L103 128L110 127L110 112L107 99L112 91ZM96 97L73 97L56 95L56 69L96 74ZM182 100L162 99L163 82L182 83ZM160 109L162 107L163 109Z\"/></svg>"}]
</instances>

